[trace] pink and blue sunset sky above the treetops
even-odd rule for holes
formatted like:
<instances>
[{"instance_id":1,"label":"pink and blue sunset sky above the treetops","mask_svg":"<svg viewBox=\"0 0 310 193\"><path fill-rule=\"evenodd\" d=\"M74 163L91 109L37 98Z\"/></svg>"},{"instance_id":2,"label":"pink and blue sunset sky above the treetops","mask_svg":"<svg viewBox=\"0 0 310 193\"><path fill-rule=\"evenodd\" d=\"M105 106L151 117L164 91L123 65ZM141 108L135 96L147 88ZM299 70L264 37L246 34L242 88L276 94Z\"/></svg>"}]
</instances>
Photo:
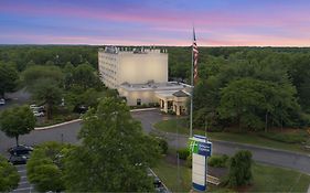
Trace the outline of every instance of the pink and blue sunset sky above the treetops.
<instances>
[{"instance_id":1,"label":"pink and blue sunset sky above the treetops","mask_svg":"<svg viewBox=\"0 0 310 193\"><path fill-rule=\"evenodd\" d=\"M310 46L310 0L0 0L0 44Z\"/></svg>"}]
</instances>

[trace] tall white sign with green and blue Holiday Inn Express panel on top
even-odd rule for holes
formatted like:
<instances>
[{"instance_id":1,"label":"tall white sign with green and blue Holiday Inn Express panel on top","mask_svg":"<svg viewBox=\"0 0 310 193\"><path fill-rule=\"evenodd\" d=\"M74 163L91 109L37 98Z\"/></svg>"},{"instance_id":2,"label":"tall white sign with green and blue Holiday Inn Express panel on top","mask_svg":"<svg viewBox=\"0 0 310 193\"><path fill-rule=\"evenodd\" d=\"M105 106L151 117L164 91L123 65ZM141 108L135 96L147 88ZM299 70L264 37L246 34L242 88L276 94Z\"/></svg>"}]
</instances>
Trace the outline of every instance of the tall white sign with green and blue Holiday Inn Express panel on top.
<instances>
[{"instance_id":1,"label":"tall white sign with green and blue Holiday Inn Express panel on top","mask_svg":"<svg viewBox=\"0 0 310 193\"><path fill-rule=\"evenodd\" d=\"M197 191L206 190L206 158L211 157L212 142L206 137L195 135L190 138L190 152L192 153L192 184Z\"/></svg>"}]
</instances>

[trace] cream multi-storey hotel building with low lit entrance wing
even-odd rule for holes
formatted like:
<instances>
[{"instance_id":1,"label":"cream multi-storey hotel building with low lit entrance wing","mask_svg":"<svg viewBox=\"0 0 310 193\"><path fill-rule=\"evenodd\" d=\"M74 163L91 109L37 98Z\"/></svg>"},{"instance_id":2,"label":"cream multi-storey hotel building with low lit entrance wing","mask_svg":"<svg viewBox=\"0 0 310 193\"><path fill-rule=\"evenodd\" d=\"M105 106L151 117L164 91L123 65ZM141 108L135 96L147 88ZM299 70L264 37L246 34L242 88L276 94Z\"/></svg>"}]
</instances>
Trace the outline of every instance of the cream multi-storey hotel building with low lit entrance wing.
<instances>
[{"instance_id":1,"label":"cream multi-storey hotel building with low lit entrance wing","mask_svg":"<svg viewBox=\"0 0 310 193\"><path fill-rule=\"evenodd\" d=\"M186 112L189 85L168 82L168 53L159 49L106 46L98 51L103 83L126 97L127 105L158 103L165 112Z\"/></svg>"}]
</instances>

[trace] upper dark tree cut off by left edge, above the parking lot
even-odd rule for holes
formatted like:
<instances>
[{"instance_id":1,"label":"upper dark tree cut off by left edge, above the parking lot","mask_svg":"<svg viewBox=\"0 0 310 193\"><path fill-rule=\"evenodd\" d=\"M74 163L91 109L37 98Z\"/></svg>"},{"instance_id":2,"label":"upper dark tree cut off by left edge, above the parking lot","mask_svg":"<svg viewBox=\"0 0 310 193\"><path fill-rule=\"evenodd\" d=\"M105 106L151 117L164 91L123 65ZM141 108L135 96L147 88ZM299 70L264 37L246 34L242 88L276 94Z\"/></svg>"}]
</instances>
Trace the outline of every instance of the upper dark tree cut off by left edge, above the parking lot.
<instances>
[{"instance_id":1,"label":"upper dark tree cut off by left edge, above the parking lot","mask_svg":"<svg viewBox=\"0 0 310 193\"><path fill-rule=\"evenodd\" d=\"M0 98L4 98L4 93L14 90L18 79L18 72L12 65L0 63Z\"/></svg>"}]
</instances>

